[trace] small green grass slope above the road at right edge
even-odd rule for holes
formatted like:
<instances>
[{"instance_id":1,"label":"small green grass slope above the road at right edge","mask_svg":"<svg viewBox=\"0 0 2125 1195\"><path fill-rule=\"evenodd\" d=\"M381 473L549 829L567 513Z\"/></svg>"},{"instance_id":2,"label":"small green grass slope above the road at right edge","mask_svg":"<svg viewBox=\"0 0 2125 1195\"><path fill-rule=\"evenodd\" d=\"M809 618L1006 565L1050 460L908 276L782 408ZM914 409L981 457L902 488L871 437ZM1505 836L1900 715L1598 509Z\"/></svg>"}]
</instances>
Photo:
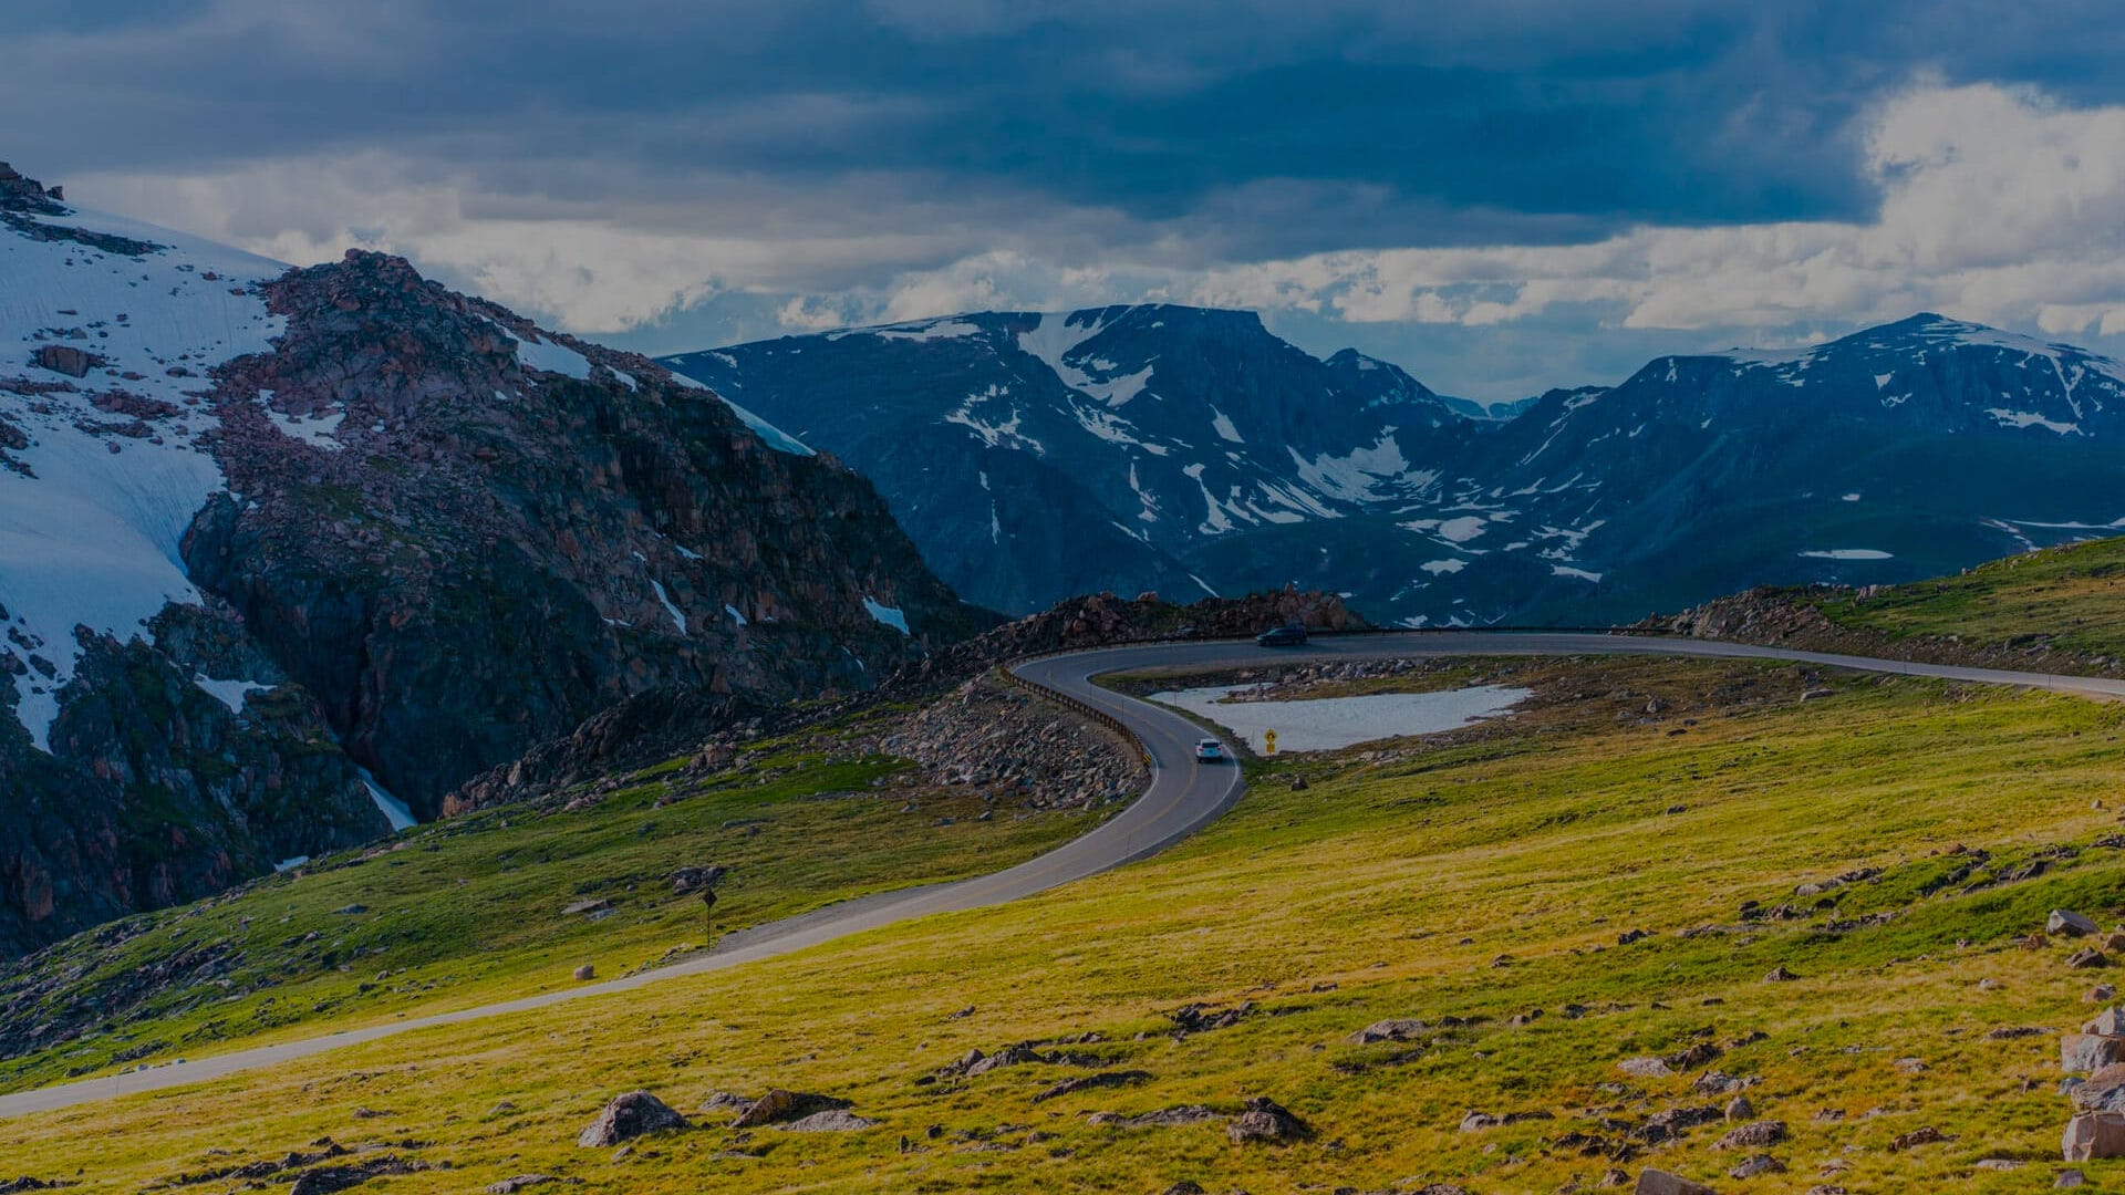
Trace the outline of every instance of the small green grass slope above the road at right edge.
<instances>
[{"instance_id":1,"label":"small green grass slope above the road at right edge","mask_svg":"<svg viewBox=\"0 0 2125 1195\"><path fill-rule=\"evenodd\" d=\"M1830 621L1908 636L1957 636L1970 646L2048 646L2125 657L2125 538L1980 563L1961 576L1912 580L1876 598L1819 602Z\"/></svg>"}]
</instances>

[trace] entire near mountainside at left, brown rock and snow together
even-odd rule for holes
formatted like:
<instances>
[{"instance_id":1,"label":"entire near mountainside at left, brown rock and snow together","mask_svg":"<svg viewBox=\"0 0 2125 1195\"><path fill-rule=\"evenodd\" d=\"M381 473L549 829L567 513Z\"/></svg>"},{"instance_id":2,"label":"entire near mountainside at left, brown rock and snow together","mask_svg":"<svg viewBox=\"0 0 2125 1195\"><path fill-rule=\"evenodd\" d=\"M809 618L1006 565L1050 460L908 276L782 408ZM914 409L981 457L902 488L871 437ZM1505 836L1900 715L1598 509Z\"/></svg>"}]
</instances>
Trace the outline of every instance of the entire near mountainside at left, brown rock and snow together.
<instances>
[{"instance_id":1,"label":"entire near mountainside at left, brown rock and snow together","mask_svg":"<svg viewBox=\"0 0 2125 1195\"><path fill-rule=\"evenodd\" d=\"M0 953L434 817L629 693L988 625L835 459L402 259L4 168L0 225Z\"/></svg>"}]
</instances>

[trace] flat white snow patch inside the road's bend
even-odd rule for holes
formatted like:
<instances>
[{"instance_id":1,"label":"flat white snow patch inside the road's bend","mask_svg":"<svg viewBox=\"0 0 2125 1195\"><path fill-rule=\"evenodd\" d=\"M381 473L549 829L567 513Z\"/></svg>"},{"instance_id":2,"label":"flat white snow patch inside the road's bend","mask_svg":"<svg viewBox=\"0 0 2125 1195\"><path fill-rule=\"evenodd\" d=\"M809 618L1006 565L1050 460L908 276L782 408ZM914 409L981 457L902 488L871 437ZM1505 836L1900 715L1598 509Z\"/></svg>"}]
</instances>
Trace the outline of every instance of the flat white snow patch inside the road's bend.
<instances>
[{"instance_id":1,"label":"flat white snow patch inside the road's bend","mask_svg":"<svg viewBox=\"0 0 2125 1195\"><path fill-rule=\"evenodd\" d=\"M1241 685L1209 685L1152 693L1154 702L1177 706L1241 736L1250 748L1266 746L1262 734L1277 731L1277 751L1334 751L1358 742L1409 734L1460 729L1502 714L1528 700L1530 689L1481 685L1445 693L1366 693L1362 697L1320 697L1311 702L1226 702Z\"/></svg>"}]
</instances>

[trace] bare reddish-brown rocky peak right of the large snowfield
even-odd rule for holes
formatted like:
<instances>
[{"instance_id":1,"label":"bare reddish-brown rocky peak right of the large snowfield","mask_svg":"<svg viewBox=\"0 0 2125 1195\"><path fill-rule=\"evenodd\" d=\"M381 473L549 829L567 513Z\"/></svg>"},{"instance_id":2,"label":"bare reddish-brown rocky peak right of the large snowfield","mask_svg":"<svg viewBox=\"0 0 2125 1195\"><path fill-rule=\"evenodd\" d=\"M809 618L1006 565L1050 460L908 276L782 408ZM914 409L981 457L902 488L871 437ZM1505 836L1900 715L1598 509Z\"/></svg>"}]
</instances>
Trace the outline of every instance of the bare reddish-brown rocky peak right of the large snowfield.
<instances>
[{"instance_id":1,"label":"bare reddish-brown rocky peak right of the large snowfield","mask_svg":"<svg viewBox=\"0 0 2125 1195\"><path fill-rule=\"evenodd\" d=\"M204 510L185 559L421 817L631 695L861 691L982 625L869 483L642 357L376 253L268 300L276 351L217 378L244 502Z\"/></svg>"}]
</instances>

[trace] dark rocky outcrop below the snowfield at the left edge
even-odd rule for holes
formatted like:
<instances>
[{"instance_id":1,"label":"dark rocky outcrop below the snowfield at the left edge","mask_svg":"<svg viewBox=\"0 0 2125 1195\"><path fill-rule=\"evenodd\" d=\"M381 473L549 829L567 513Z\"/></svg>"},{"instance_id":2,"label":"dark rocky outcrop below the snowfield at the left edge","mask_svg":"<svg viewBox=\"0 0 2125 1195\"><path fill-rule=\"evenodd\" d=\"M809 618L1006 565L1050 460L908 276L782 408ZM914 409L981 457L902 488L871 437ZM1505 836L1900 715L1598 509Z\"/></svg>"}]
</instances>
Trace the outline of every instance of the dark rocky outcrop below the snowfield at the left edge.
<instances>
[{"instance_id":1,"label":"dark rocky outcrop below the snowfield at the left edge","mask_svg":"<svg viewBox=\"0 0 2125 1195\"><path fill-rule=\"evenodd\" d=\"M204 619L164 621L191 644L178 621ZM389 831L306 691L255 691L232 710L193 668L144 642L85 640L53 753L0 689L0 957ZM0 1053L32 1027L11 1019Z\"/></svg>"}]
</instances>

